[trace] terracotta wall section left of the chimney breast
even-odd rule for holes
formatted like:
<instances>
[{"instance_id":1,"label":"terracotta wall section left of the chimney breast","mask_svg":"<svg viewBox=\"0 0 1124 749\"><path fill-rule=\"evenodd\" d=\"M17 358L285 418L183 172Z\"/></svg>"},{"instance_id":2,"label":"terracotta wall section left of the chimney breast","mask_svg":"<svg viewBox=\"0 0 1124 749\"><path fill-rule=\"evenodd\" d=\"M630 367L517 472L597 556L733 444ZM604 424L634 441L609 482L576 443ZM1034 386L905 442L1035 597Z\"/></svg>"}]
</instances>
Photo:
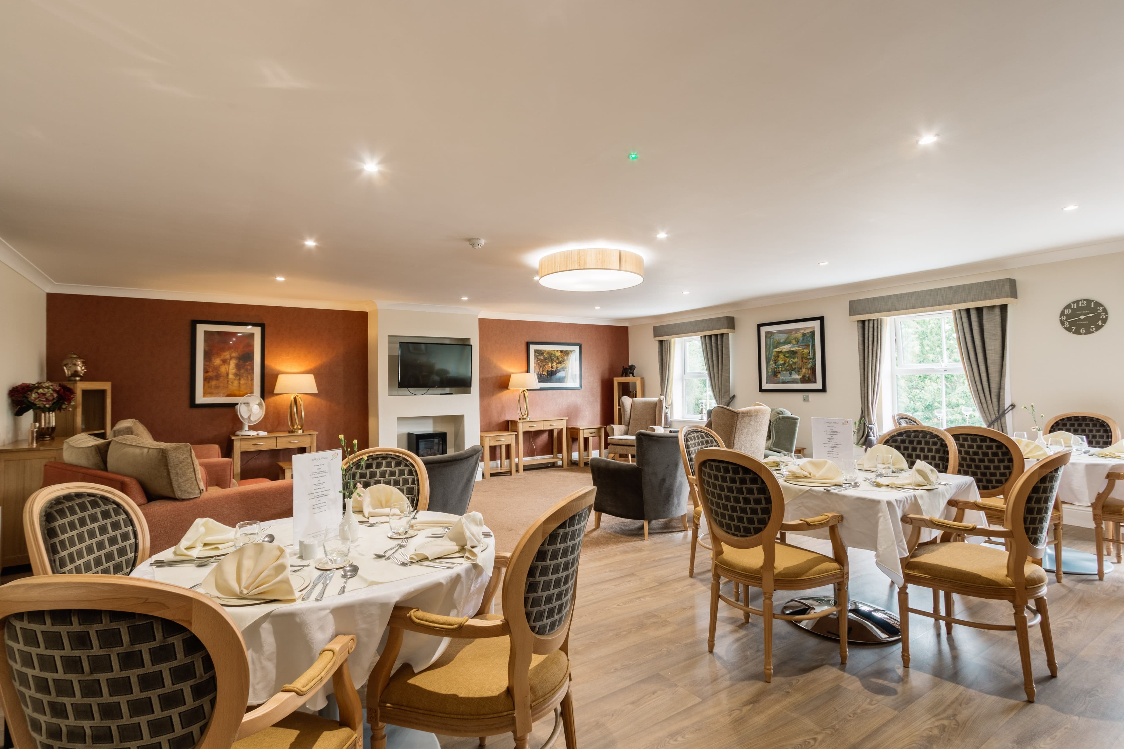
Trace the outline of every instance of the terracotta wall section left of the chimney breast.
<instances>
[{"instance_id":1,"label":"terracotta wall section left of the chimney breast","mask_svg":"<svg viewBox=\"0 0 1124 749\"><path fill-rule=\"evenodd\" d=\"M112 417L138 419L167 442L218 445L242 428L234 408L191 408L191 321L265 323L265 419L255 428L289 429L289 395L273 395L281 373L311 373L319 393L305 395L305 424L319 449L348 441L368 447L366 312L255 304L215 304L124 296L47 294L47 377L64 380L75 351L85 380L114 384ZM243 455L243 478L277 478L293 450Z\"/></svg>"}]
</instances>

